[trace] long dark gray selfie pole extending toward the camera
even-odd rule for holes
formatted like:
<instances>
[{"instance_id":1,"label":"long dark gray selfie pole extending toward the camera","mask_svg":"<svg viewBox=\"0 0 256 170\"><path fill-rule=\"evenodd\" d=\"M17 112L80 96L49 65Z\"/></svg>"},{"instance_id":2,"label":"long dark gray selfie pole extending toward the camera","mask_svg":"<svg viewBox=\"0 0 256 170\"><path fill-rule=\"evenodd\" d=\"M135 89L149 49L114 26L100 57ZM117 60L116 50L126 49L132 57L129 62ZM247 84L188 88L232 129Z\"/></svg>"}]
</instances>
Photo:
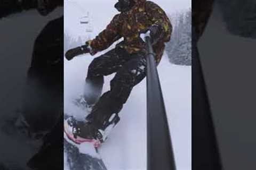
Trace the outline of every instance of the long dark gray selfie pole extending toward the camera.
<instances>
[{"instance_id":1,"label":"long dark gray selfie pole extending toward the camera","mask_svg":"<svg viewBox=\"0 0 256 170\"><path fill-rule=\"evenodd\" d=\"M150 42L147 36L147 170L175 170L164 100Z\"/></svg>"}]
</instances>

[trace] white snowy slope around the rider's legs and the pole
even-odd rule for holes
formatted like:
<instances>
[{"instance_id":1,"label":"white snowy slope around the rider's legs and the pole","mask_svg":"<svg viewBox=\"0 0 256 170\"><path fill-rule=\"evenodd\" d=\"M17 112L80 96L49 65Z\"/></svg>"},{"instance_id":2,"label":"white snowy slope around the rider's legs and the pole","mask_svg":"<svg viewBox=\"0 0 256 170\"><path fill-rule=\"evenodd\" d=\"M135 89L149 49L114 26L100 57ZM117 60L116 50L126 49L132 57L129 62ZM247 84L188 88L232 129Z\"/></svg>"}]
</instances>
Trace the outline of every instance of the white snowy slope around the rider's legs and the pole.
<instances>
[{"instance_id":1,"label":"white snowy slope around the rider's legs and the pole","mask_svg":"<svg viewBox=\"0 0 256 170\"><path fill-rule=\"evenodd\" d=\"M83 55L65 61L65 113L83 118L86 113L71 100L81 95L86 69L93 57ZM83 71L85 70L85 71ZM158 66L178 169L191 169L191 67L177 66L165 55ZM109 90L105 77L103 91ZM134 87L121 111L121 121L101 146L109 169L146 169L146 79Z\"/></svg>"}]
</instances>

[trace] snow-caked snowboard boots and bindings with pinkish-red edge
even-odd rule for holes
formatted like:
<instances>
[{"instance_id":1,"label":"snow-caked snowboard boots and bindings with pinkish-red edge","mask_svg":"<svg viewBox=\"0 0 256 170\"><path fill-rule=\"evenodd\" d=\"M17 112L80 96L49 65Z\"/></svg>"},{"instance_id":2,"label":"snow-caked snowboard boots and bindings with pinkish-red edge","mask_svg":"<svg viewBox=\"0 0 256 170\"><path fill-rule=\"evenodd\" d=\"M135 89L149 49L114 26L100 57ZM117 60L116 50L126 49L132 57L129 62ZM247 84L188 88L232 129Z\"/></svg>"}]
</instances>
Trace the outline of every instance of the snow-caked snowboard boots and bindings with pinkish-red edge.
<instances>
[{"instance_id":1,"label":"snow-caked snowboard boots and bindings with pinkish-red edge","mask_svg":"<svg viewBox=\"0 0 256 170\"><path fill-rule=\"evenodd\" d=\"M90 115L88 117L90 118ZM65 138L76 145L89 142L98 148L101 143L106 141L109 132L120 118L117 114L113 114L100 128L97 128L93 122L89 121L88 117L85 122L77 121L74 117L67 118L64 122Z\"/></svg>"}]
</instances>

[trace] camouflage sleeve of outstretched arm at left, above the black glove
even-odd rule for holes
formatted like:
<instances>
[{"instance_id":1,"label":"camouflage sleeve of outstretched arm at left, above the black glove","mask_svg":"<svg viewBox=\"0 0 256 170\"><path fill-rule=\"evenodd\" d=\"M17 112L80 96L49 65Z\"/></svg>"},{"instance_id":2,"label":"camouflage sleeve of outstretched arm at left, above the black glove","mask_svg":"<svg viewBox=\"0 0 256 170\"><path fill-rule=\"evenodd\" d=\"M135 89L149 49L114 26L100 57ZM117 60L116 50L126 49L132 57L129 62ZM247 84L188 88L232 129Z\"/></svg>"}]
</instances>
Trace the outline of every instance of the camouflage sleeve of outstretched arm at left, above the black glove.
<instances>
[{"instance_id":1,"label":"camouflage sleeve of outstretched arm at left, above the black glove","mask_svg":"<svg viewBox=\"0 0 256 170\"><path fill-rule=\"evenodd\" d=\"M94 55L101 50L107 49L115 41L121 38L119 35L119 14L107 25L107 28L99 33L93 40L86 42L90 46L90 54Z\"/></svg>"}]
</instances>

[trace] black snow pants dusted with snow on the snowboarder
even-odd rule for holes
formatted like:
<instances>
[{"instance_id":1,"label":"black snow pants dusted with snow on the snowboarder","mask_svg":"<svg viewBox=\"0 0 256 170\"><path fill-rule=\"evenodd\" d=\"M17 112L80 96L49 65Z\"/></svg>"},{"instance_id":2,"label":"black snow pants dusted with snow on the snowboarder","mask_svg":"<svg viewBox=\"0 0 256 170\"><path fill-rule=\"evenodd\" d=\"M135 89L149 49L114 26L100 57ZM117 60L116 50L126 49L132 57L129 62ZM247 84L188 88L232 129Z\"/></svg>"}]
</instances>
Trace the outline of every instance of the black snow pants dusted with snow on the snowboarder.
<instances>
[{"instance_id":1,"label":"black snow pants dusted with snow on the snowboarder","mask_svg":"<svg viewBox=\"0 0 256 170\"><path fill-rule=\"evenodd\" d=\"M85 83L85 100L95 103L87 120L96 128L102 128L111 115L118 114L126 103L132 88L146 77L146 55L127 53L116 47L95 58L89 66ZM101 97L103 76L116 73L110 82L110 90Z\"/></svg>"}]
</instances>

